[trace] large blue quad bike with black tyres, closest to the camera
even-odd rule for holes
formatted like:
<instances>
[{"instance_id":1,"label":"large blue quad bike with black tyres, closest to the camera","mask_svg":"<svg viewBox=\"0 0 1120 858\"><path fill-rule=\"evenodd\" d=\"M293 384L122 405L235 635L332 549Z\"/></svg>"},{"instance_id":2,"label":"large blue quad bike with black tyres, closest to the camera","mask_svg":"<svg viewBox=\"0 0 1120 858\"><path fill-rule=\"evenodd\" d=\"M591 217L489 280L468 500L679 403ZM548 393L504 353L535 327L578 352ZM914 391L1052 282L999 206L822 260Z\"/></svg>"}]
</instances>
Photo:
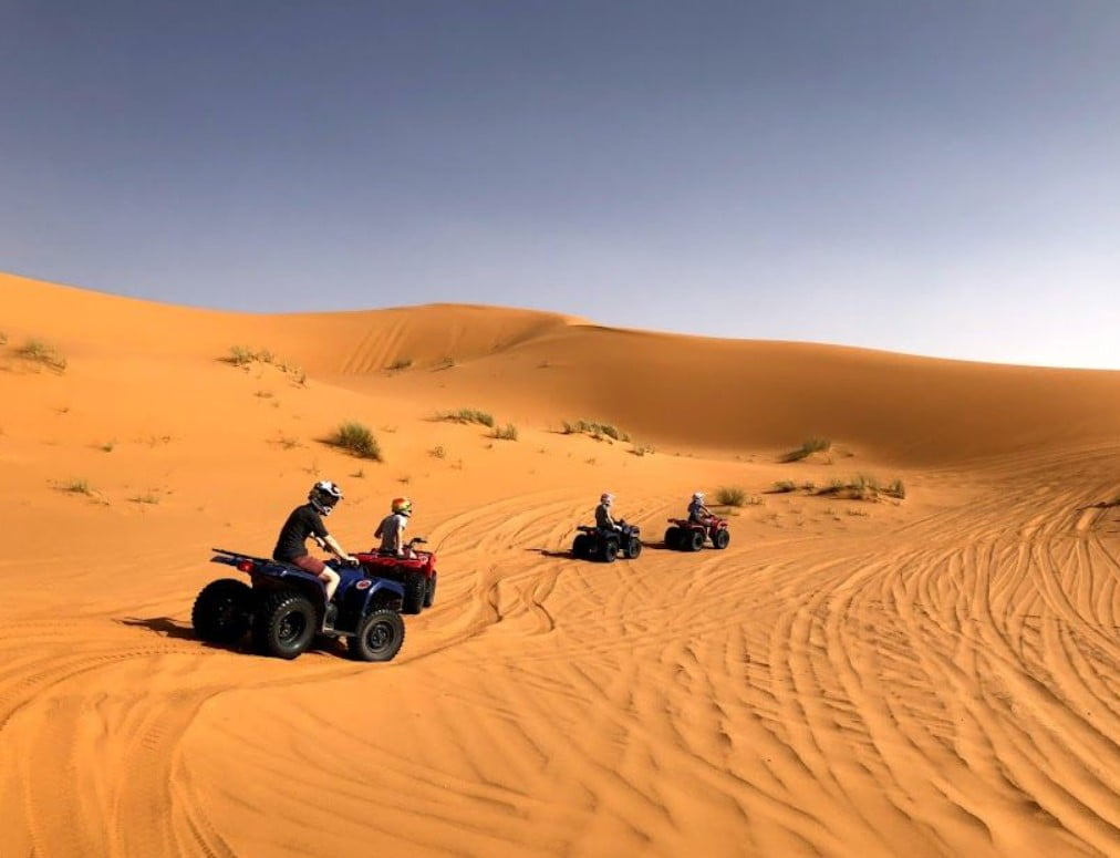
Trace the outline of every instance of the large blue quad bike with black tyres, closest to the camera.
<instances>
[{"instance_id":1,"label":"large blue quad bike with black tyres, closest to the camera","mask_svg":"<svg viewBox=\"0 0 1120 858\"><path fill-rule=\"evenodd\" d=\"M326 588L302 569L222 548L211 562L249 575L211 581L195 599L190 622L203 641L235 644L251 633L254 649L279 659L304 653L316 635L345 637L346 654L357 661L391 661L404 642L400 608L404 588L371 577L361 567L327 562L342 580L326 604Z\"/></svg>"}]
</instances>

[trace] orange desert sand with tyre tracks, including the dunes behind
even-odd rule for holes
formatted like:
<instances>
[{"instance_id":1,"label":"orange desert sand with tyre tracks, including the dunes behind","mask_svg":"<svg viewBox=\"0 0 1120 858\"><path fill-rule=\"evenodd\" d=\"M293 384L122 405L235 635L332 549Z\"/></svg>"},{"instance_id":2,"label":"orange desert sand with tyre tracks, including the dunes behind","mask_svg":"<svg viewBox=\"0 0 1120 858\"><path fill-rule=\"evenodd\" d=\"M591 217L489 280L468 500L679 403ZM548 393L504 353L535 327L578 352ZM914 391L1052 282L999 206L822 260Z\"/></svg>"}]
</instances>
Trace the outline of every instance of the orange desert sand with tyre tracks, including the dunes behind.
<instances>
[{"instance_id":1,"label":"orange desert sand with tyre tracks, including the dunes behind","mask_svg":"<svg viewBox=\"0 0 1120 858\"><path fill-rule=\"evenodd\" d=\"M0 297L2 858L1120 855L1118 372ZM771 491L853 474L906 497ZM347 549L408 494L438 551L396 660L196 641L319 478ZM730 547L661 549L720 486ZM646 551L571 559L608 489Z\"/></svg>"}]
</instances>

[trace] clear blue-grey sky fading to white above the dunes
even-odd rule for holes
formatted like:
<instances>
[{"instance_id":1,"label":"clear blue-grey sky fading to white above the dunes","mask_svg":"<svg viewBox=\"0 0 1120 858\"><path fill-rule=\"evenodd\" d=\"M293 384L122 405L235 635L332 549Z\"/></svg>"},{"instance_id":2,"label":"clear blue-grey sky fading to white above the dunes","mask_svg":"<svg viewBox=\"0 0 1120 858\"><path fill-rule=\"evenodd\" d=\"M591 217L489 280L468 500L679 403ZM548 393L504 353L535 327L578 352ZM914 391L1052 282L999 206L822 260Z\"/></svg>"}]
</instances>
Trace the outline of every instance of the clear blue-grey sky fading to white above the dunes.
<instances>
[{"instance_id":1,"label":"clear blue-grey sky fading to white above the dunes","mask_svg":"<svg viewBox=\"0 0 1120 858\"><path fill-rule=\"evenodd\" d=\"M0 270L1120 369L1120 2L0 0Z\"/></svg>"}]
</instances>

